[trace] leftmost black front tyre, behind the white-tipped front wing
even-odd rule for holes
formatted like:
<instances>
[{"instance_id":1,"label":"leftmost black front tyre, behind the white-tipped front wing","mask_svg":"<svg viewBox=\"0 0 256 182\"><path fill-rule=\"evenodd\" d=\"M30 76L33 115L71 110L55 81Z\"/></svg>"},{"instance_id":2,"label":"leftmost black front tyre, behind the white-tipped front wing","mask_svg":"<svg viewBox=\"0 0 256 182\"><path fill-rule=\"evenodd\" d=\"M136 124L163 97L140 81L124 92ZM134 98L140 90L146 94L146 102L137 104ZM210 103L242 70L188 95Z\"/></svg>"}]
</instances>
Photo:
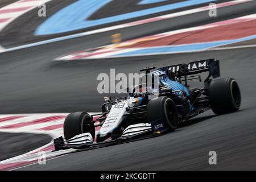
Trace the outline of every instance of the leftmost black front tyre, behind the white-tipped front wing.
<instances>
[{"instance_id":1,"label":"leftmost black front tyre, behind the white-tipped front wing","mask_svg":"<svg viewBox=\"0 0 256 182\"><path fill-rule=\"evenodd\" d=\"M90 133L94 139L95 128L92 117L86 112L68 114L64 121L64 137L66 140L82 133Z\"/></svg>"}]
</instances>

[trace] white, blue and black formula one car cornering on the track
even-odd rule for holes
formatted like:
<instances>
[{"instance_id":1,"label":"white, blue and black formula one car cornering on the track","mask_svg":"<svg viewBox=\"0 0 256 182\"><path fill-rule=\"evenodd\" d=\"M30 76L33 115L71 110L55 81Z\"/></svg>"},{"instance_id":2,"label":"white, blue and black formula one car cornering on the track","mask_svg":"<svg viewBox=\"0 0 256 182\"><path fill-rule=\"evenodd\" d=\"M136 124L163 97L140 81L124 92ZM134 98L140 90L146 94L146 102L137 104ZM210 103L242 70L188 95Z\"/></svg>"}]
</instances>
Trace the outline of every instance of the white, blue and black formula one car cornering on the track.
<instances>
[{"instance_id":1,"label":"white, blue and black formula one car cornering on the track","mask_svg":"<svg viewBox=\"0 0 256 182\"><path fill-rule=\"evenodd\" d=\"M71 113L65 118L64 137L54 140L55 149L86 148L102 143L174 131L179 122L212 109L216 114L237 111L241 105L240 88L234 78L220 77L219 61L214 59L172 65L150 72L154 84L137 85L127 97L105 97L102 113ZM189 89L188 80L199 80L198 73L209 72L204 88ZM149 92L151 90L151 92ZM151 98L151 99L150 99ZM97 119L93 119L97 118ZM95 127L101 126L96 135ZM95 139L95 140L94 140Z\"/></svg>"}]
</instances>

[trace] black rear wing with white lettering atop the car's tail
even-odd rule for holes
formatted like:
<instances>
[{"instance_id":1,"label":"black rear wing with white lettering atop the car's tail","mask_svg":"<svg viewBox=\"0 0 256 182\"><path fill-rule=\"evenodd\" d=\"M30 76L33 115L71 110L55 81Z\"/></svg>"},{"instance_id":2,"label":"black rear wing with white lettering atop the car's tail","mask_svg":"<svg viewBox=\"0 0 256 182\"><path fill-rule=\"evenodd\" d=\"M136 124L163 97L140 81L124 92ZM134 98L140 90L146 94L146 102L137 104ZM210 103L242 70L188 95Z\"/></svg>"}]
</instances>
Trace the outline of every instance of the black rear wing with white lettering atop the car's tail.
<instances>
[{"instance_id":1,"label":"black rear wing with white lettering atop the car's tail","mask_svg":"<svg viewBox=\"0 0 256 182\"><path fill-rule=\"evenodd\" d=\"M200 61L193 61L188 64L177 64L168 67L159 68L158 70L168 72L176 77L195 75L198 73L208 72L209 76L217 78L220 76L220 63L219 60L207 59Z\"/></svg>"}]
</instances>

